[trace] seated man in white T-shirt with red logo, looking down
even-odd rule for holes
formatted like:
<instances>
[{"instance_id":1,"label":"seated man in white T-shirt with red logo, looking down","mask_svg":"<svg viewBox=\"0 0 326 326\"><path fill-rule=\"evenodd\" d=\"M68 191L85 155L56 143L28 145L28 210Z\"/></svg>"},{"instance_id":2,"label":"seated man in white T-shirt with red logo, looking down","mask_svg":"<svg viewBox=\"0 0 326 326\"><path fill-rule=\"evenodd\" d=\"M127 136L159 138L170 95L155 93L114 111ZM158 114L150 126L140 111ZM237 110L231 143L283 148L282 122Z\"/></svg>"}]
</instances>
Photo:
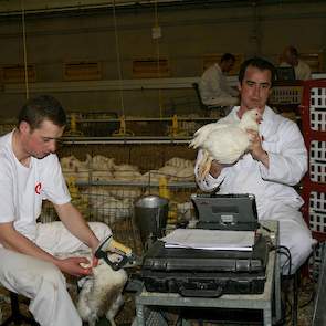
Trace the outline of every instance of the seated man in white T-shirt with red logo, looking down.
<instances>
[{"instance_id":1,"label":"seated man in white T-shirt with red logo, looking down","mask_svg":"<svg viewBox=\"0 0 326 326\"><path fill-rule=\"evenodd\" d=\"M55 254L92 250L111 234L103 223L84 221L71 203L57 156L66 116L52 96L28 101L18 126L0 138L0 284L30 298L42 326L81 326L66 291L66 273L88 275L84 257ZM61 222L36 223L42 200L53 202ZM93 262L96 264L96 260Z\"/></svg>"}]
</instances>

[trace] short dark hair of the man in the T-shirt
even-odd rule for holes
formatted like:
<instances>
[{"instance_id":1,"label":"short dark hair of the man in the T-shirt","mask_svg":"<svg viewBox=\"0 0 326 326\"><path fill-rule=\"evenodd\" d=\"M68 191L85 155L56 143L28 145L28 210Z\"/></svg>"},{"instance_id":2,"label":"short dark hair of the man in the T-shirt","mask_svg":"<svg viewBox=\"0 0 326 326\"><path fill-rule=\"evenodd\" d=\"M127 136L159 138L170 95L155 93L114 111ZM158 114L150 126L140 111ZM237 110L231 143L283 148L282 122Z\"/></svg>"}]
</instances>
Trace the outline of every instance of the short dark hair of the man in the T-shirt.
<instances>
[{"instance_id":1,"label":"short dark hair of the man in the T-shirt","mask_svg":"<svg viewBox=\"0 0 326 326\"><path fill-rule=\"evenodd\" d=\"M59 127L66 125L65 112L57 99L50 95L41 95L29 99L18 115L18 126L27 122L31 129L36 129L44 120Z\"/></svg>"}]
</instances>

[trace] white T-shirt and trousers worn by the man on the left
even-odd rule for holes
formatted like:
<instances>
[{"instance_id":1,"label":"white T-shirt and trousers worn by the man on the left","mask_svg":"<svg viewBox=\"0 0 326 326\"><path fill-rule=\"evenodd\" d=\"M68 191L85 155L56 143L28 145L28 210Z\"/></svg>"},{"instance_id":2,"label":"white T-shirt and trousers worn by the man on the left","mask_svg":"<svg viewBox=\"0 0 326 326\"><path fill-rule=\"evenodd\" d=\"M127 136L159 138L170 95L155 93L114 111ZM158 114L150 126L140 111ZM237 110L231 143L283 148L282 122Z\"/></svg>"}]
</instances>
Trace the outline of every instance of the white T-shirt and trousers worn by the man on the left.
<instances>
[{"instance_id":1,"label":"white T-shirt and trousers worn by the man on the left","mask_svg":"<svg viewBox=\"0 0 326 326\"><path fill-rule=\"evenodd\" d=\"M31 157L25 167L12 151L9 133L0 138L0 223L13 222L18 232L54 255L90 250L61 222L36 223L43 199L56 204L71 200L56 155ZM99 240L112 233L104 223L90 227ZM30 311L42 326L82 325L65 278L54 264L0 244L0 284L29 297Z\"/></svg>"}]
</instances>

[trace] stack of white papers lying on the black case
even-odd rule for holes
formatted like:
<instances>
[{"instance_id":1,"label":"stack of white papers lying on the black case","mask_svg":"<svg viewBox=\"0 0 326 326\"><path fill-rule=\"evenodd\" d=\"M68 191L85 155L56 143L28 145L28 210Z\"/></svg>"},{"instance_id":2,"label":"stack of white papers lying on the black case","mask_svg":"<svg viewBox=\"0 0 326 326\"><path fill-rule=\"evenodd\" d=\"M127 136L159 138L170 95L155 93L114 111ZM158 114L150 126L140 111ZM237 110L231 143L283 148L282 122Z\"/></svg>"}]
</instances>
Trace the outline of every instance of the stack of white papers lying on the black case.
<instances>
[{"instance_id":1,"label":"stack of white papers lying on the black case","mask_svg":"<svg viewBox=\"0 0 326 326\"><path fill-rule=\"evenodd\" d=\"M162 238L166 248L251 251L254 231L177 229Z\"/></svg>"}]
</instances>

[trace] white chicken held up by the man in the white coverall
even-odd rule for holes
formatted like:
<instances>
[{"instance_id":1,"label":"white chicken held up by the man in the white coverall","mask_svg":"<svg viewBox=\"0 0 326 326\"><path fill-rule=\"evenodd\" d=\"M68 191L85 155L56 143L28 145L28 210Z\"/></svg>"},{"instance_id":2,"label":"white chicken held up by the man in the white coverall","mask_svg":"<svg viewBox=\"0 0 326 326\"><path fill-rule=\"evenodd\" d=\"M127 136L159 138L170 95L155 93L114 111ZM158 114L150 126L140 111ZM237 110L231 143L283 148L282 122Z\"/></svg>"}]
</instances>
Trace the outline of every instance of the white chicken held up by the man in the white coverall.
<instances>
[{"instance_id":1,"label":"white chicken held up by the man in the white coverall","mask_svg":"<svg viewBox=\"0 0 326 326\"><path fill-rule=\"evenodd\" d=\"M203 150L198 178L204 179L212 160L222 165L234 164L239 160L249 150L250 135L246 129L257 132L261 118L259 109L253 108L246 111L240 122L227 117L198 129L189 145Z\"/></svg>"}]
</instances>

